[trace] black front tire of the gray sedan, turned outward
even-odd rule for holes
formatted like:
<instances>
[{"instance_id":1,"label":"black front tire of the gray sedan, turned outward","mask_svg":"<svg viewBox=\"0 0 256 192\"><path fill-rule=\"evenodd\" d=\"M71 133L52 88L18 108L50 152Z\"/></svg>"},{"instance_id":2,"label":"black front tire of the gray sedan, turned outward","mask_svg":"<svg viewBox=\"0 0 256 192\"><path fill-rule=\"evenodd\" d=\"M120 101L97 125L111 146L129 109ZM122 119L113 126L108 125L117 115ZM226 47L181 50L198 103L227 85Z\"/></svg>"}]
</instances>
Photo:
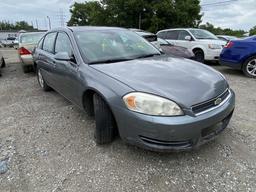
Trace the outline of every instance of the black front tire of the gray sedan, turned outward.
<instances>
[{"instance_id":1,"label":"black front tire of the gray sedan, turned outward","mask_svg":"<svg viewBox=\"0 0 256 192\"><path fill-rule=\"evenodd\" d=\"M114 117L107 103L98 94L93 95L93 104L96 121L96 143L110 143L114 139Z\"/></svg>"}]
</instances>

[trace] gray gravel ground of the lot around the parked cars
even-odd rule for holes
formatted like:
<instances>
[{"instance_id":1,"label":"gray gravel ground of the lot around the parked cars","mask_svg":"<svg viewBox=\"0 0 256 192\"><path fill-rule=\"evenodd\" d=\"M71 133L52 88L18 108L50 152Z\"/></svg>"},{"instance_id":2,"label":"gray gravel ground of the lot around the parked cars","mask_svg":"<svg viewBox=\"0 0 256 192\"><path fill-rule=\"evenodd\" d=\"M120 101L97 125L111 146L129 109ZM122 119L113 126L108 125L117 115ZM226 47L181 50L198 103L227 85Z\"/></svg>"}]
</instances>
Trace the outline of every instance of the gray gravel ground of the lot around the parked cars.
<instances>
[{"instance_id":1,"label":"gray gravel ground of the lot around the parked cars","mask_svg":"<svg viewBox=\"0 0 256 192\"><path fill-rule=\"evenodd\" d=\"M15 51L11 61L17 62ZM0 78L0 191L256 191L256 80L214 65L237 95L228 128L200 149L155 153L93 141L94 120L33 74Z\"/></svg>"}]
</instances>

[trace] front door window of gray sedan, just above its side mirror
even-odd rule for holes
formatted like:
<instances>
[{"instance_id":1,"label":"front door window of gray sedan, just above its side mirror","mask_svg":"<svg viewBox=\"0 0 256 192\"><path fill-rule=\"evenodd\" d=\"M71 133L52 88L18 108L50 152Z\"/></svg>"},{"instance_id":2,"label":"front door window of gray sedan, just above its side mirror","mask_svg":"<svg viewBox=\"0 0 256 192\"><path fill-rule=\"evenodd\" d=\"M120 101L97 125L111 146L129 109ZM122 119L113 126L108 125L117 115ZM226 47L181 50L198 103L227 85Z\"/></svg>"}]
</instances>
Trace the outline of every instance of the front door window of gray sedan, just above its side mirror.
<instances>
[{"instance_id":1,"label":"front door window of gray sedan, just above its side mirror","mask_svg":"<svg viewBox=\"0 0 256 192\"><path fill-rule=\"evenodd\" d=\"M58 33L55 45L55 53L67 52L72 56L72 46L69 37L66 33Z\"/></svg>"}]
</instances>

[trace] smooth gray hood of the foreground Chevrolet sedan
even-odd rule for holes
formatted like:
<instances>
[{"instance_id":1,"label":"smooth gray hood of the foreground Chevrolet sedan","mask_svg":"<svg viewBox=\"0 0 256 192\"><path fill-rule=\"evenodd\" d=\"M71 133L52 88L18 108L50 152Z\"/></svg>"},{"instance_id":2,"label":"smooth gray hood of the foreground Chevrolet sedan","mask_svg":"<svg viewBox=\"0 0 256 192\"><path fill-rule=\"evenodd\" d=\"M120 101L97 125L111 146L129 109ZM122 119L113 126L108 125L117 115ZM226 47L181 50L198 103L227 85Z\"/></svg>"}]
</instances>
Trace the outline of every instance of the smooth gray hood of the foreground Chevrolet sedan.
<instances>
[{"instance_id":1,"label":"smooth gray hood of the foreground Chevrolet sedan","mask_svg":"<svg viewBox=\"0 0 256 192\"><path fill-rule=\"evenodd\" d=\"M185 108L217 97L228 88L219 72L182 58L157 56L91 67L135 91L169 98Z\"/></svg>"}]
</instances>

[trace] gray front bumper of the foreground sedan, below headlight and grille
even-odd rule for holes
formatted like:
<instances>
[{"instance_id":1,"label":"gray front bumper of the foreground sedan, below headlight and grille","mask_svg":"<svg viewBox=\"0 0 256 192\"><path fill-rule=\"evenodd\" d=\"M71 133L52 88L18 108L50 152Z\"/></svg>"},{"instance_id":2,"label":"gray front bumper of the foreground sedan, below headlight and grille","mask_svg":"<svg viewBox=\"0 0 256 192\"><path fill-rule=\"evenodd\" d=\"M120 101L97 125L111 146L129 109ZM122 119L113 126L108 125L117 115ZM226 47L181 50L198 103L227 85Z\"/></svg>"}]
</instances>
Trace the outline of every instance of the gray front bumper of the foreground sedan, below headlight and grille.
<instances>
[{"instance_id":1,"label":"gray front bumper of the foreground sedan, below headlight and grille","mask_svg":"<svg viewBox=\"0 0 256 192\"><path fill-rule=\"evenodd\" d=\"M153 151L196 148L215 138L228 125L235 108L235 94L220 107L205 114L178 117L149 116L113 108L121 138Z\"/></svg>"}]
</instances>

